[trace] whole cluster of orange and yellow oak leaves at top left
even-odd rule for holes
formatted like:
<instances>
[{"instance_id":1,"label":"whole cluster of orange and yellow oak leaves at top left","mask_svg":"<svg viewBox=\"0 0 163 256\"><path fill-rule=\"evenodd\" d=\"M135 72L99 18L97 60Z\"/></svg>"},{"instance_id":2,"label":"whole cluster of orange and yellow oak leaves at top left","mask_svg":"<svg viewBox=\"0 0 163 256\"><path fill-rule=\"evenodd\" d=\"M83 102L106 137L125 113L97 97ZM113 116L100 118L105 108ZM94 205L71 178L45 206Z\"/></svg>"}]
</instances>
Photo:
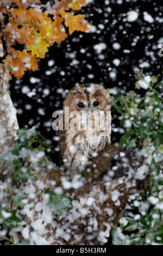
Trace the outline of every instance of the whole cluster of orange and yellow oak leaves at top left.
<instances>
[{"instance_id":1,"label":"whole cluster of orange and yellow oak leaves at top left","mask_svg":"<svg viewBox=\"0 0 163 256\"><path fill-rule=\"evenodd\" d=\"M49 46L54 42L60 44L67 38L65 27L69 27L70 34L74 31L89 31L85 15L70 12L80 10L88 3L86 0L61 0L55 1L51 8L43 5L42 9L39 0L0 1L0 44L5 42L4 59L0 59L0 74L5 68L5 82L11 79L10 74L20 79L25 71L37 70L37 58L45 58ZM24 47L22 51L12 48L17 47L17 44Z\"/></svg>"}]
</instances>

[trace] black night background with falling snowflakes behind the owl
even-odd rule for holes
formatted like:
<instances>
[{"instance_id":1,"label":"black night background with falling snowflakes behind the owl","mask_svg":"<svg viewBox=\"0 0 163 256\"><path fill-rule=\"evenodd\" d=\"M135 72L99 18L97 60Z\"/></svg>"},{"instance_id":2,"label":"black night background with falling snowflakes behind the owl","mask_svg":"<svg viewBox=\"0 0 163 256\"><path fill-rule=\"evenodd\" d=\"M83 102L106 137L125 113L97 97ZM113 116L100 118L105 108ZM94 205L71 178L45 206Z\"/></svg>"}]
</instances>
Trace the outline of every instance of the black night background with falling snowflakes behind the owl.
<instances>
[{"instance_id":1,"label":"black night background with falling snowflakes behind the owl","mask_svg":"<svg viewBox=\"0 0 163 256\"><path fill-rule=\"evenodd\" d=\"M76 11L85 14L86 20L92 23L91 33L74 32L60 45L54 44L46 58L39 60L38 71L26 72L21 81L10 82L20 127L36 126L50 140L48 154L54 162L58 163L58 146L52 114L62 109L68 90L84 83L101 84L111 88L113 94L122 88L134 90L137 69L146 75L157 75L161 80L163 57L158 55L158 45L163 43L162 5L160 1L150 0L95 0L82 11ZM139 14L134 22L127 20L131 10ZM149 20L147 13L151 15ZM104 46L101 52L95 46L99 43ZM112 143L123 132L114 113Z\"/></svg>"}]
</instances>

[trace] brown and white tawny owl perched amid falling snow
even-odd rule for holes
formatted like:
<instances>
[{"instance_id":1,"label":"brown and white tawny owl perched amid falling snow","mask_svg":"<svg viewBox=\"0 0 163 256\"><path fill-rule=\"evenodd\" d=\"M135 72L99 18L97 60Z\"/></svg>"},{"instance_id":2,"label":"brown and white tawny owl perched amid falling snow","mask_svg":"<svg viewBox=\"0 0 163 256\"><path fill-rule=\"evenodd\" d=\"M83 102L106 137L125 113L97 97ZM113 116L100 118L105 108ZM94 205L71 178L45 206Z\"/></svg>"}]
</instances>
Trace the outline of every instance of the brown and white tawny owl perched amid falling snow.
<instances>
[{"instance_id":1,"label":"brown and white tawny owl perched amid falling snow","mask_svg":"<svg viewBox=\"0 0 163 256\"><path fill-rule=\"evenodd\" d=\"M80 173L92 157L110 145L111 97L98 84L73 87L58 124L60 150L66 169Z\"/></svg>"}]
</instances>

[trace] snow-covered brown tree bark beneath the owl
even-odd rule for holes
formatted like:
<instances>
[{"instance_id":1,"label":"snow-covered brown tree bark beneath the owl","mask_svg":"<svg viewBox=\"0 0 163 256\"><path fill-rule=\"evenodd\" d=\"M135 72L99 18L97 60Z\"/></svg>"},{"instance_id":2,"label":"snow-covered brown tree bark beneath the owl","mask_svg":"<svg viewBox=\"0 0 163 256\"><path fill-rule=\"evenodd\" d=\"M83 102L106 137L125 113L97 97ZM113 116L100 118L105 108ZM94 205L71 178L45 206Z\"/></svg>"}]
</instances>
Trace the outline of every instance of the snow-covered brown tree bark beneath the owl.
<instances>
[{"instance_id":1,"label":"snow-covered brown tree bark beneath the owl","mask_svg":"<svg viewBox=\"0 0 163 256\"><path fill-rule=\"evenodd\" d=\"M114 152L112 156L111 151ZM70 178L60 170L51 169L48 174L43 169L35 172L37 182L42 182L44 189L40 190L36 182L36 197L29 198L27 204L32 214L26 210L26 206L23 212L20 211L25 224L23 227L29 229L28 235L37 237L32 238L33 244L104 245L126 204L140 200L147 190L149 166L140 149L120 153L120 148L114 144L103 150L103 159L99 154L92 162L101 168L101 173L105 170L100 180L93 182L87 182L87 178L79 174ZM80 184L81 181L83 184ZM54 193L65 193L71 199L71 205L61 216L49 208L47 194L43 193L48 187ZM39 222L42 223L41 227L37 225ZM27 238L26 232L22 231L22 234L21 239Z\"/></svg>"}]
</instances>

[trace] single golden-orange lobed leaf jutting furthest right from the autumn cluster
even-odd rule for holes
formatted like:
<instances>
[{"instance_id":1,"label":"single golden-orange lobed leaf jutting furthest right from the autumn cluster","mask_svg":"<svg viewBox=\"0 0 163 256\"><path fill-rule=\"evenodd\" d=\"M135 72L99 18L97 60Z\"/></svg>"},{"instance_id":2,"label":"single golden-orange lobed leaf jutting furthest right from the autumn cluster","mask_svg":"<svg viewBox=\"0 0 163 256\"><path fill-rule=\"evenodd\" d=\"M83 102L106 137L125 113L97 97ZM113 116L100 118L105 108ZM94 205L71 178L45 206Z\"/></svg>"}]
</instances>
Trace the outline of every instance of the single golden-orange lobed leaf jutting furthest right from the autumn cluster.
<instances>
[{"instance_id":1,"label":"single golden-orange lobed leaf jutting furthest right from the autumn cluster","mask_svg":"<svg viewBox=\"0 0 163 256\"><path fill-rule=\"evenodd\" d=\"M89 31L89 23L84 21L85 15L73 13L65 13L65 11L59 10L60 15L65 19L65 26L69 27L69 32L72 34L74 31Z\"/></svg>"}]
</instances>

